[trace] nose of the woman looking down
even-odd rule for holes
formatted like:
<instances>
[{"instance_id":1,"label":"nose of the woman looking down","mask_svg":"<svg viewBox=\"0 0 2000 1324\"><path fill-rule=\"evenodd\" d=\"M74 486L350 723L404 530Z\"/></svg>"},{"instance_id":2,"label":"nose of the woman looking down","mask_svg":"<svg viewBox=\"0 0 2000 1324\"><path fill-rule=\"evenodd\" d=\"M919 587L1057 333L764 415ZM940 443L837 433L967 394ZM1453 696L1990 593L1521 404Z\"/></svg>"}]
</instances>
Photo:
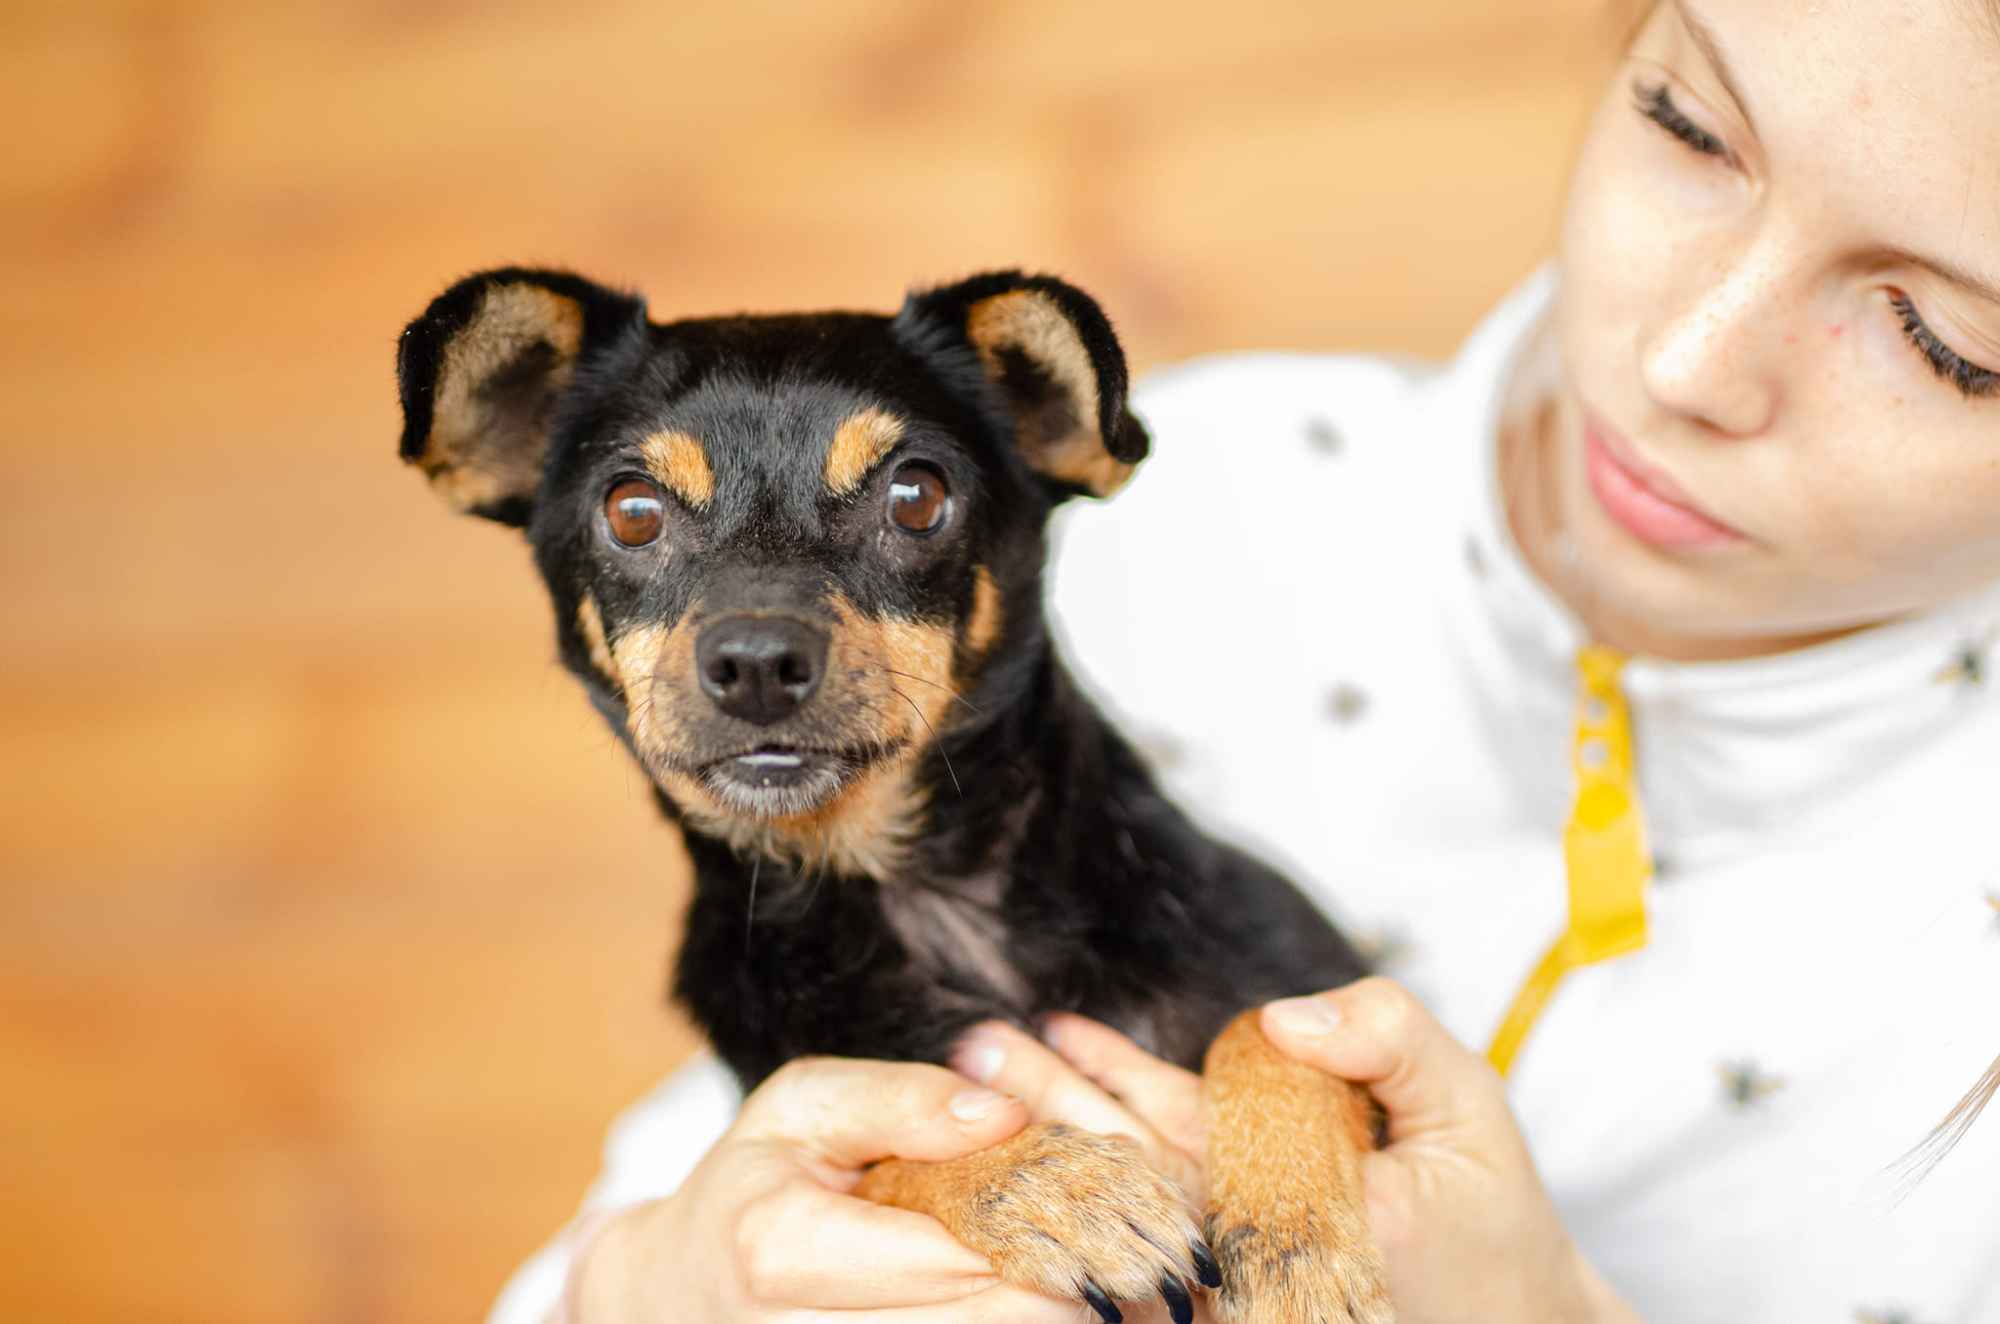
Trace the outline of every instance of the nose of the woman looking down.
<instances>
[{"instance_id":1,"label":"nose of the woman looking down","mask_svg":"<svg viewBox=\"0 0 2000 1324\"><path fill-rule=\"evenodd\" d=\"M1728 436L1764 432L1782 396L1782 274L1748 256L1664 310L1640 348L1652 398Z\"/></svg>"}]
</instances>

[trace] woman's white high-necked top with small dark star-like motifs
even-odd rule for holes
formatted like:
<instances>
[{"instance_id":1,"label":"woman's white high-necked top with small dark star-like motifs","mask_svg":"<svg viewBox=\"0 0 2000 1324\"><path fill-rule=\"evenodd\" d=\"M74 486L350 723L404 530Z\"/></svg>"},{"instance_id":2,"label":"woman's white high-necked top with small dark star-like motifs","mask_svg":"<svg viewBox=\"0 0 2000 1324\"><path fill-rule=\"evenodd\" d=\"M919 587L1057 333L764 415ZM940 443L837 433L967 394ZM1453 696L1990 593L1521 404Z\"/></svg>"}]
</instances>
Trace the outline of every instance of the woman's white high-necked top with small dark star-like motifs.
<instances>
[{"instance_id":1,"label":"woman's white high-necked top with small dark star-like motifs","mask_svg":"<svg viewBox=\"0 0 2000 1324\"><path fill-rule=\"evenodd\" d=\"M1072 668L1206 828L1280 864L1484 1048L1562 930L1576 620L1524 566L1496 434L1542 272L1442 370L1256 354L1154 374L1154 454L1062 518ZM1896 1160L2000 1054L2000 586L1752 662L1624 668L1650 944L1562 982L1510 1076L1590 1260L1652 1324L2000 1324L2000 1106ZM710 1058L612 1130L586 1208L672 1192ZM496 1324L566 1264L522 1266Z\"/></svg>"}]
</instances>

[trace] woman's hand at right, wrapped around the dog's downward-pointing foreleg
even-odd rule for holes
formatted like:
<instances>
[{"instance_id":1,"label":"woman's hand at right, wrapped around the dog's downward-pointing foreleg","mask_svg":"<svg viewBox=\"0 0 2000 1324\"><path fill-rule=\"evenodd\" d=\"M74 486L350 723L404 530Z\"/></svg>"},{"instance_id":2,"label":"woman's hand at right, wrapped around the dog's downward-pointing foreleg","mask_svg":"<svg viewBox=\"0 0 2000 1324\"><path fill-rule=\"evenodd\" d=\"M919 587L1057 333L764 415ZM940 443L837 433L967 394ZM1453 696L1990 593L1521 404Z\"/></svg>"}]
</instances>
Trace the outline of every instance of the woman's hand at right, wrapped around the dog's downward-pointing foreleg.
<instances>
[{"instance_id":1,"label":"woman's hand at right, wrapped around the dog's downward-pointing foreleg","mask_svg":"<svg viewBox=\"0 0 2000 1324\"><path fill-rule=\"evenodd\" d=\"M1388 1112L1388 1148L1362 1160L1362 1182L1400 1324L1636 1324L1562 1228L1498 1074L1416 998L1362 980L1274 1002L1262 1024L1280 1052L1366 1084ZM1050 1018L1044 1036L1056 1052L980 1026L954 1066L1036 1120L1132 1136L1200 1200L1200 1078L1080 1016Z\"/></svg>"}]
</instances>

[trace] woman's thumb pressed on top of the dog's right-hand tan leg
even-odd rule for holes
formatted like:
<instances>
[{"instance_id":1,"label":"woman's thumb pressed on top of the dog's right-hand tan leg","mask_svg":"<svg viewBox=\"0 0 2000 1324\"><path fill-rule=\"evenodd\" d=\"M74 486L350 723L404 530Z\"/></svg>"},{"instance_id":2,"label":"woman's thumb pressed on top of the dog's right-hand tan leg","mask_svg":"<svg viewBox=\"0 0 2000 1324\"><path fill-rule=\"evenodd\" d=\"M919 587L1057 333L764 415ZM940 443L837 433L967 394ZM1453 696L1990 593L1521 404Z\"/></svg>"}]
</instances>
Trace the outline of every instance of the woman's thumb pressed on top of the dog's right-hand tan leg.
<instances>
[{"instance_id":1,"label":"woman's thumb pressed on top of the dog's right-hand tan leg","mask_svg":"<svg viewBox=\"0 0 2000 1324\"><path fill-rule=\"evenodd\" d=\"M1278 1052L1364 1082L1390 1118L1390 1140L1506 1116L1500 1076L1400 984L1368 978L1272 1002L1264 1034Z\"/></svg>"}]
</instances>

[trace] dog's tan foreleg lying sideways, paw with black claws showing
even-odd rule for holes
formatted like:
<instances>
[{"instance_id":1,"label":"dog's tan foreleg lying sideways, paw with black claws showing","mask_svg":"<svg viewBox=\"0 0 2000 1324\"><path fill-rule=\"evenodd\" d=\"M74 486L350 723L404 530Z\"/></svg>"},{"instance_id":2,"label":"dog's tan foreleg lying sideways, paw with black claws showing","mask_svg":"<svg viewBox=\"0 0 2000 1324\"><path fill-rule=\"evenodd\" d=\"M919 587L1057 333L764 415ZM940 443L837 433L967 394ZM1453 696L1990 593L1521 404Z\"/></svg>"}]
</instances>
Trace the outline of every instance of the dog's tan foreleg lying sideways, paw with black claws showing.
<instances>
[{"instance_id":1,"label":"dog's tan foreleg lying sideways, paw with black claws showing","mask_svg":"<svg viewBox=\"0 0 2000 1324\"><path fill-rule=\"evenodd\" d=\"M1154 1296L1186 1320L1184 1284L1214 1282L1186 1198L1124 1136L1040 1122L966 1158L880 1162L854 1194L930 1214L1000 1278L1106 1320Z\"/></svg>"}]
</instances>

